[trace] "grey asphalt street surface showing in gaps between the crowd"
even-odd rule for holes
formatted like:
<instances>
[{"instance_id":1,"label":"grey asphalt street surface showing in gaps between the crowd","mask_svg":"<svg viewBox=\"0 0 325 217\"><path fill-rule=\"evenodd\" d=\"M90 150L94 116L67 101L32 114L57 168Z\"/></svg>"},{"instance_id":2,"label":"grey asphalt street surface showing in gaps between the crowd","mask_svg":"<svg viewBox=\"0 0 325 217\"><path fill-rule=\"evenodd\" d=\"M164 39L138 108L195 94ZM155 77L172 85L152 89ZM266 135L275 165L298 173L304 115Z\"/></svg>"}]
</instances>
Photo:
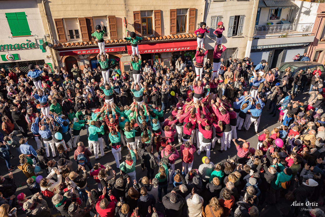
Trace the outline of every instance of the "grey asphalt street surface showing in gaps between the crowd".
<instances>
[{"instance_id":1,"label":"grey asphalt street surface showing in gaps between the crowd","mask_svg":"<svg viewBox=\"0 0 325 217\"><path fill-rule=\"evenodd\" d=\"M294 100L300 100L302 102L306 102L308 100L308 98L309 98L309 94L304 93L304 94L298 94L298 96L295 97ZM267 111L268 105L269 105L269 100L267 101L266 106L262 111L261 121L260 121L259 128L258 128L259 132L263 131L263 129L266 129L266 128L271 131L274 127L279 126L279 123L277 123L277 120L278 120L278 117L279 117L278 116L279 112L277 113L276 117L272 117L272 115L269 114L270 111ZM167 118L169 115L170 114L167 113L164 116ZM253 148L256 149L258 140L257 140L257 135L255 135L255 132L254 132L254 129L253 129L252 126L248 130L248 132L237 131L237 136L238 136L238 138L245 139L247 142L250 143L250 147L253 147ZM5 133L4 133L4 135L5 135ZM32 133L30 132L29 135L30 135L31 138L28 140L28 144L32 145L33 148L36 150L37 146L36 146L36 142L32 138ZM88 147L88 140L87 140L86 130L82 130L80 132L80 135L81 135L80 141L84 142L85 146ZM18 136L21 136L21 135L18 135ZM242 144L242 142L238 142L238 143ZM104 144L105 144L105 142L104 142ZM179 152L180 144L176 145L176 148L177 148L177 151ZM73 159L74 150L70 151L70 158L71 158L71 160L73 162L72 167L77 169L77 163ZM156 152L155 147L153 148L153 150L154 150L154 154L157 156L158 153ZM234 159L236 157L237 150L236 150L236 147L235 147L233 142L231 142L230 149L227 149L226 152L224 151L223 153L220 153L217 150L220 150L220 146L218 146L218 145L215 146L214 150L211 151L211 155L210 155L211 156L211 161L214 164L217 164L221 160L223 160L225 158L228 158L228 155L230 155L230 157L232 159ZM19 158L18 158L18 154L17 154L16 150L14 148L11 148L10 151L15 156L15 158L10 160L11 165L18 166L19 165ZM103 156L99 160L95 160L94 151L92 152L93 155L90 157L92 165L95 164L95 163L100 163L100 164L102 164L104 166L110 165L115 170L115 172L118 174L120 171L116 168L115 159L114 159L111 151L108 151L107 149L104 149L104 151L106 152L106 155ZM126 157L126 155L128 153L127 148L126 147L123 148L121 153L122 153L122 161L124 161L125 157ZM205 156L204 152L202 152L200 156L198 156L197 153L194 153L194 162L193 162L193 167L192 168L199 168L199 166L202 164L202 157L203 156ZM53 159L51 152L50 152L49 159ZM56 160L59 160L59 158L56 158ZM143 176L146 176L146 174L147 174L146 170L142 171L140 164L141 164L141 161L136 162L137 181L140 178L142 178ZM5 163L5 161L3 159L0 160L0 165L1 165L1 168L2 168L1 169L1 174L4 175L4 176L7 176L8 171L7 171L6 163ZM89 169L88 168L86 168L86 169L87 169L87 171L89 173ZM180 158L178 158L175 161L175 169L180 169L180 170L182 169L182 163L181 163ZM43 175L43 177L45 177L46 176L45 170L41 170L41 171L44 172L42 175ZM158 167L156 168L155 174L157 172L158 172ZM16 195L18 195L19 193L25 193L28 196L28 198L30 198L32 195L31 195L30 190L26 186L26 183L25 183L26 182L26 177L23 174L23 172L16 167L16 169L13 170L12 173L13 173L13 177L15 178L16 185L18 187L17 191L16 191ZM95 180L92 177L90 177L87 180L87 183L88 183L90 189L93 189L93 188L97 189L97 183L95 182ZM168 191L171 191L171 189L172 189L172 185L169 185ZM47 201L47 203L48 203L49 207L51 208L51 210L53 210L52 214L53 215L54 214L59 214L59 213L57 213L55 211L55 208L54 209L52 208L53 205L52 205L52 202L51 202L50 198L45 198L45 200ZM281 216L283 214L281 209L286 214L290 209L290 204L291 203L288 202L287 200L285 200L284 198L280 198L280 201L276 206L271 206L271 205L266 206L266 203L264 203L262 206L259 207L260 216ZM163 205L161 203L157 202L156 203L156 208L159 211L163 211ZM21 215L21 214L24 214L24 212L23 212L23 210L18 210L17 214Z\"/></svg>"}]
</instances>

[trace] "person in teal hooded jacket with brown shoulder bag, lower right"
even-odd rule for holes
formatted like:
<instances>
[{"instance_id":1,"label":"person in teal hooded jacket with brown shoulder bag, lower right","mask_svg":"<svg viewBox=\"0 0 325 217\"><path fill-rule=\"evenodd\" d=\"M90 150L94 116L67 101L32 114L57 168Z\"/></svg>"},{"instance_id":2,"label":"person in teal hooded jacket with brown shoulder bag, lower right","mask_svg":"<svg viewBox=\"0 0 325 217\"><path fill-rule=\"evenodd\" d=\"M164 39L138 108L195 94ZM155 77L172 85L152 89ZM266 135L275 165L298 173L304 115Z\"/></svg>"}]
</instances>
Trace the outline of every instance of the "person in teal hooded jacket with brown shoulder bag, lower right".
<instances>
[{"instance_id":1,"label":"person in teal hooded jacket with brown shoulder bag, lower right","mask_svg":"<svg viewBox=\"0 0 325 217\"><path fill-rule=\"evenodd\" d=\"M279 201L280 190L282 188L281 183L290 181L292 178L292 170L290 168L280 167L280 163L278 163L278 166L282 172L277 172L274 180L271 182L270 202L267 202L269 205L275 205Z\"/></svg>"}]
</instances>

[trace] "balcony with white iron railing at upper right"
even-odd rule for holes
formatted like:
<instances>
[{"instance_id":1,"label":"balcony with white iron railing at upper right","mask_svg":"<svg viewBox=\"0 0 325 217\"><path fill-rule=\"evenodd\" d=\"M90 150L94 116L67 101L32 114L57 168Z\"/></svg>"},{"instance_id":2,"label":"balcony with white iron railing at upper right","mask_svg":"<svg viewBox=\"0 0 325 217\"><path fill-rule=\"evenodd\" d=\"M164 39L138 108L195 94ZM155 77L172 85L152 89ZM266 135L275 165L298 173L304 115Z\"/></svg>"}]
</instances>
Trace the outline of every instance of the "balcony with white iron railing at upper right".
<instances>
[{"instance_id":1,"label":"balcony with white iron railing at upper right","mask_svg":"<svg viewBox=\"0 0 325 217\"><path fill-rule=\"evenodd\" d=\"M254 36L308 34L312 31L313 25L314 23L257 25L254 29Z\"/></svg>"}]
</instances>

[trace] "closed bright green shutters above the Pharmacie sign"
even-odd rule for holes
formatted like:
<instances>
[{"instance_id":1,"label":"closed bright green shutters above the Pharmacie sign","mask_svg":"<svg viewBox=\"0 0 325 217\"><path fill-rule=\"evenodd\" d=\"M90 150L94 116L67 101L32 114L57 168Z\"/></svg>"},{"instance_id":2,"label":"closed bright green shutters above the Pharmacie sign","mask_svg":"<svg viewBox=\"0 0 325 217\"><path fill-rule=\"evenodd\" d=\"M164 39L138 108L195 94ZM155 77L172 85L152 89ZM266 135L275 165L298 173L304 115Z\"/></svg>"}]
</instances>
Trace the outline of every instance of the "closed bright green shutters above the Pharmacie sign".
<instances>
[{"instance_id":1,"label":"closed bright green shutters above the Pharmacie sign","mask_svg":"<svg viewBox=\"0 0 325 217\"><path fill-rule=\"evenodd\" d=\"M6 13L12 36L30 36L31 30L25 12Z\"/></svg>"}]
</instances>

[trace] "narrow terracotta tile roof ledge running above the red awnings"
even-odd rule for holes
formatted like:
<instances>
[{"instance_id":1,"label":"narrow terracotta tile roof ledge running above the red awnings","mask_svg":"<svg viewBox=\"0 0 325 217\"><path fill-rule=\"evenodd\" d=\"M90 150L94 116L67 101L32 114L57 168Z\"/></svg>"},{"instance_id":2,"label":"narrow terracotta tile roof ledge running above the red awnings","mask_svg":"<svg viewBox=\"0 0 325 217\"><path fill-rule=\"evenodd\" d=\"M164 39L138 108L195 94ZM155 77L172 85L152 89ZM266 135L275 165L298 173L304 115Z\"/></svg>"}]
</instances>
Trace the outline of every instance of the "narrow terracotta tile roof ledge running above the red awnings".
<instances>
[{"instance_id":1,"label":"narrow terracotta tile roof ledge running above the red awnings","mask_svg":"<svg viewBox=\"0 0 325 217\"><path fill-rule=\"evenodd\" d=\"M168 35L168 36L154 36L154 37L142 37L142 41L169 41L176 39L191 39L196 38L197 36L193 34L183 34L183 35ZM125 39L110 39L104 41L105 44L126 44L128 41ZM72 42L72 43L58 43L53 45L53 48L68 48L68 47L82 47L82 46L92 46L97 45L96 41L82 41L82 42Z\"/></svg>"}]
</instances>

